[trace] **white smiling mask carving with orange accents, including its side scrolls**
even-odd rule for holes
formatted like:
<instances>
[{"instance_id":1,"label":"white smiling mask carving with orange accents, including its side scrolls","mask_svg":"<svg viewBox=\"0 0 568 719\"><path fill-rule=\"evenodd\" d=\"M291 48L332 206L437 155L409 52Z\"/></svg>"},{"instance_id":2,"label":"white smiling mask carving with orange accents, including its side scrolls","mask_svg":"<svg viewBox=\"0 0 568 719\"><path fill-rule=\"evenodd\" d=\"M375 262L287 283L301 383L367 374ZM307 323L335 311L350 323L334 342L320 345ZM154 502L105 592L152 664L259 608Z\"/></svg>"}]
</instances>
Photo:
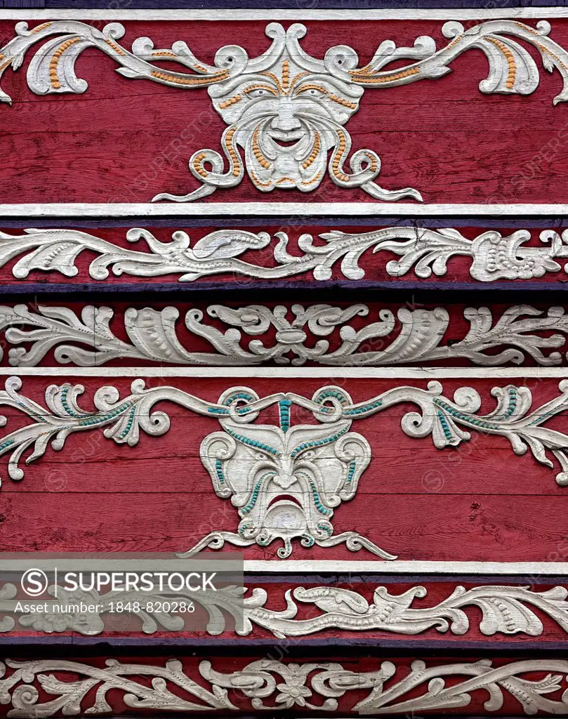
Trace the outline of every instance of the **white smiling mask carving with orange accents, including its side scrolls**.
<instances>
[{"instance_id":1,"label":"white smiling mask carving with orange accents, including its side scrolls","mask_svg":"<svg viewBox=\"0 0 568 719\"><path fill-rule=\"evenodd\" d=\"M139 37L129 51L117 42L125 32L119 23L101 31L71 20L44 22L31 30L20 22L17 37L0 49L0 75L10 65L17 70L29 47L45 41L27 70L29 88L40 95L86 91L86 81L75 75L75 60L87 47L97 47L113 58L120 66L117 72L127 78L183 89L209 87L214 109L227 126L221 138L223 155L198 150L189 169L201 187L184 196L161 193L155 200L196 200L216 188L237 186L245 170L262 192L310 192L327 173L339 187L362 188L379 200L421 200L416 189L385 190L375 183L381 163L373 150L357 150L349 157L352 141L345 125L359 109L365 88L440 78L450 72L455 58L476 48L489 62L489 75L480 83L483 93L528 95L539 84L539 70L518 42L522 41L536 48L546 70L556 68L562 75L563 89L554 103L566 101L568 53L547 37L550 30L546 21L531 27L513 20L492 20L468 29L446 22L442 33L449 43L441 50L428 36L418 37L413 47L383 40L370 63L359 65L357 52L347 45L330 47L323 60L313 58L299 42L306 27L293 24L286 30L272 22L266 28L272 45L265 53L249 58L243 47L226 45L216 53L214 65L209 65L198 60L182 40L171 48L156 49L149 37ZM177 63L191 72L155 64L162 62ZM399 64L386 69L392 63ZM0 101L11 99L0 90Z\"/></svg>"}]
</instances>

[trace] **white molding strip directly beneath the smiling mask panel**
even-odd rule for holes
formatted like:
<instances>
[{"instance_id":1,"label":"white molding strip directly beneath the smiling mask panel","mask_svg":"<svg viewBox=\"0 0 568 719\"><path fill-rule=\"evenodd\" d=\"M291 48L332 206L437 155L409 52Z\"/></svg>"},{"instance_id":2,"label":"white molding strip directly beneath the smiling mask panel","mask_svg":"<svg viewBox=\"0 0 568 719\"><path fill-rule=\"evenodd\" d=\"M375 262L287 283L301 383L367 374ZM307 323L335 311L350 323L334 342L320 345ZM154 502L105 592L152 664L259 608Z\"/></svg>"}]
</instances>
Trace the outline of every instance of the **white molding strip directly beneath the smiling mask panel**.
<instances>
[{"instance_id":1,"label":"white molding strip directly beneath the smiling mask panel","mask_svg":"<svg viewBox=\"0 0 568 719\"><path fill-rule=\"evenodd\" d=\"M566 8L568 13L568 8ZM3 11L0 10L0 19ZM23 16L22 16L23 17ZM29 16L26 16L29 17ZM44 16L47 17L47 16ZM51 17L51 16L49 16ZM568 17L568 15L567 15ZM197 203L22 203L0 204L0 217L203 217L230 215L430 216L568 215L568 204L419 204L375 202L197 202Z\"/></svg>"}]
</instances>

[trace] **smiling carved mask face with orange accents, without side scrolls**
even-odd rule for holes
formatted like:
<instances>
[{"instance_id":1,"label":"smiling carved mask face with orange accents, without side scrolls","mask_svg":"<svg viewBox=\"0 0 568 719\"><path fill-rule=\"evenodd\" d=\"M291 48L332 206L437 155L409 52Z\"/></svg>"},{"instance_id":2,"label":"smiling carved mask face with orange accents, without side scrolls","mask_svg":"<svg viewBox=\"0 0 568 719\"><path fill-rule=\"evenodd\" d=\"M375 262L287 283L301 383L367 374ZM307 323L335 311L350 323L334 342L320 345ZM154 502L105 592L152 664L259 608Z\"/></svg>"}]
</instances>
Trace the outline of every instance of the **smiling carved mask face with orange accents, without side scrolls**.
<instances>
[{"instance_id":1,"label":"smiling carved mask face with orange accents, without side scrolls","mask_svg":"<svg viewBox=\"0 0 568 719\"><path fill-rule=\"evenodd\" d=\"M313 73L285 52L260 73L210 88L214 107L244 149L249 178L263 192L297 188L309 192L326 174L329 150L345 149L341 127L359 107L362 88ZM330 172L338 171L330 164Z\"/></svg>"}]
</instances>

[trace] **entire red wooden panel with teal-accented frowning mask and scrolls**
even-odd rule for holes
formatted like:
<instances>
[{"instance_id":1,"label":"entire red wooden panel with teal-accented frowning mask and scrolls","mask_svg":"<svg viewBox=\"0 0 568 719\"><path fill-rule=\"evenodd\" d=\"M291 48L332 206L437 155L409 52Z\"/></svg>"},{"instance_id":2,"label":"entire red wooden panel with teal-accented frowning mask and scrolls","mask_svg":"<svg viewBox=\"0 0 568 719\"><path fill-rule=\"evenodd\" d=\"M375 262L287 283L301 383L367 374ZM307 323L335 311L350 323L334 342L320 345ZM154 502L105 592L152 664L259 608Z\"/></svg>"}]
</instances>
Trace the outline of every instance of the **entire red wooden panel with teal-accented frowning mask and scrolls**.
<instances>
[{"instance_id":1,"label":"entire red wooden panel with teal-accented frowning mask and scrolls","mask_svg":"<svg viewBox=\"0 0 568 719\"><path fill-rule=\"evenodd\" d=\"M441 370L381 380L374 370L372 379L348 380L348 393L309 376L294 377L290 391L289 377L266 372L237 383L205 371L196 375L198 394L196 378L175 368L170 377L150 374L147 386L140 377L9 377L0 453L12 480L24 476L24 460L30 477L4 485L4 546L50 546L45 526L55 531L61 512L81 516L81 527L72 546L60 535L55 546L98 549L89 525L101 517L89 518L82 499L96 492L112 510L102 519L105 536L118 532L119 541L127 531L132 551L140 541L148 549L143 526L160 526L152 549L182 557L237 547L249 559L287 561L360 550L365 561L388 565L558 561L547 558L563 546L566 380L533 371L531 389L528 380L431 379ZM25 508L35 526L42 493L52 504L52 491L62 494L50 516L42 513L42 538L14 536L19 513ZM197 505L194 516L188 506ZM525 521L532 512L541 516L538 537ZM434 531L442 517L462 540ZM492 532L480 533L487 525ZM508 539L495 544L495 533Z\"/></svg>"}]
</instances>

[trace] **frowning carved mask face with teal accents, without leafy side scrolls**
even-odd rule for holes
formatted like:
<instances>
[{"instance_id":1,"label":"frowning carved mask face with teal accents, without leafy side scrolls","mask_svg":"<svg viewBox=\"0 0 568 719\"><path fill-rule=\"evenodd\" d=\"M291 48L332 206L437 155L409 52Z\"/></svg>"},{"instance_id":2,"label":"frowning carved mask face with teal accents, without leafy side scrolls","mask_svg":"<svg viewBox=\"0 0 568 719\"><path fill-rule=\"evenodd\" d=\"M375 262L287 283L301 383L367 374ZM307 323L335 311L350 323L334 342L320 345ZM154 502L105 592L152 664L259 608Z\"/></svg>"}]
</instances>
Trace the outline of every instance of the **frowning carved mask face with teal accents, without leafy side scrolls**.
<instances>
[{"instance_id":1,"label":"frowning carved mask face with teal accents, without leafy side scrolls","mask_svg":"<svg viewBox=\"0 0 568 719\"><path fill-rule=\"evenodd\" d=\"M333 509L352 499L370 461L367 441L349 432L351 420L282 429L223 419L221 426L203 440L201 460L216 493L232 495L242 540L282 539L285 558L293 537L303 546L329 539Z\"/></svg>"}]
</instances>

